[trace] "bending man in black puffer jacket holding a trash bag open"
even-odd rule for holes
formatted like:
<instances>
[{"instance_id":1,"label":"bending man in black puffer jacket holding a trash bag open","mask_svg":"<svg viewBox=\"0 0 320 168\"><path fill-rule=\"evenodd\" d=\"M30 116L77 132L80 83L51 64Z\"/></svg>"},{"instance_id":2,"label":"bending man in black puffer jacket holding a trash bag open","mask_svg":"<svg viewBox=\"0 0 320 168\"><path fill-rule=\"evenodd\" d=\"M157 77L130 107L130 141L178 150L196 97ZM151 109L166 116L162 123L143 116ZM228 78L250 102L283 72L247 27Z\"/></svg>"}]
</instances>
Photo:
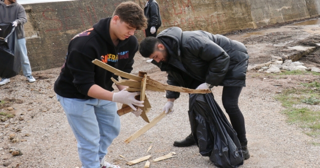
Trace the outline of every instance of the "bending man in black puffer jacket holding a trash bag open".
<instances>
[{"instance_id":1,"label":"bending man in black puffer jacket holding a trash bag open","mask_svg":"<svg viewBox=\"0 0 320 168\"><path fill-rule=\"evenodd\" d=\"M156 38L144 38L139 52L143 57L152 58L152 63L168 73L167 83L170 85L192 89L223 86L223 107L241 143L243 158L250 157L244 118L238 107L249 57L241 42L206 31L182 31L179 27L170 27ZM173 101L178 97L179 92L166 91L168 101L163 110L172 109ZM190 134L183 140L174 141L173 145L190 146L195 145L195 141Z\"/></svg>"}]
</instances>

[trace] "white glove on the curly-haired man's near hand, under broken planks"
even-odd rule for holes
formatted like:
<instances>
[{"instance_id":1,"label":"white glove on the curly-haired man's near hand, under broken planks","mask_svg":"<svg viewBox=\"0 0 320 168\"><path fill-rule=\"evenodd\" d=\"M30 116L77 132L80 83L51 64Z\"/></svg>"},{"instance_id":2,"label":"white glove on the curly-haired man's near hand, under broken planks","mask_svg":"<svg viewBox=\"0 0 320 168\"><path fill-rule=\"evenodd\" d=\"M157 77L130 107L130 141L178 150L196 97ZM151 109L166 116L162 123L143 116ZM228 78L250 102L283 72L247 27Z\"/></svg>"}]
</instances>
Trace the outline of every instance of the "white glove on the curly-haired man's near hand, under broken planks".
<instances>
[{"instance_id":1,"label":"white glove on the curly-haired man's near hand, under broken planks","mask_svg":"<svg viewBox=\"0 0 320 168\"><path fill-rule=\"evenodd\" d=\"M134 98L134 96L139 95L140 92L128 92L126 90L121 90L119 92L113 93L112 101L113 102L119 102L122 104L129 105L134 111L136 111L136 108L133 105L143 107L142 104L144 101L139 101Z\"/></svg>"}]
</instances>

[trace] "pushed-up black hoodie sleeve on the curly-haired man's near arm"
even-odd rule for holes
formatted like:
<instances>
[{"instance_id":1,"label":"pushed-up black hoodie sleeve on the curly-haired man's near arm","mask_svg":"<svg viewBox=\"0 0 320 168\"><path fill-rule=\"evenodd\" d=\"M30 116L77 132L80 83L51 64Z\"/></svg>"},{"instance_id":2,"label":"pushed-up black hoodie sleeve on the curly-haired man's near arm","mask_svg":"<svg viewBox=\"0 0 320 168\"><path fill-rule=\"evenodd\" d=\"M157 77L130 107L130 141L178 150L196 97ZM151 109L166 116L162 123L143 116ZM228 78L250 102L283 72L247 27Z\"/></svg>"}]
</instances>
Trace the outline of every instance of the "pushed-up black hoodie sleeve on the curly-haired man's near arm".
<instances>
[{"instance_id":1,"label":"pushed-up black hoodie sleeve on the curly-haired man's near arm","mask_svg":"<svg viewBox=\"0 0 320 168\"><path fill-rule=\"evenodd\" d=\"M77 50L71 50L68 54L66 64L73 76L73 84L76 89L87 95L89 88L94 84L94 63L90 57Z\"/></svg>"}]
</instances>

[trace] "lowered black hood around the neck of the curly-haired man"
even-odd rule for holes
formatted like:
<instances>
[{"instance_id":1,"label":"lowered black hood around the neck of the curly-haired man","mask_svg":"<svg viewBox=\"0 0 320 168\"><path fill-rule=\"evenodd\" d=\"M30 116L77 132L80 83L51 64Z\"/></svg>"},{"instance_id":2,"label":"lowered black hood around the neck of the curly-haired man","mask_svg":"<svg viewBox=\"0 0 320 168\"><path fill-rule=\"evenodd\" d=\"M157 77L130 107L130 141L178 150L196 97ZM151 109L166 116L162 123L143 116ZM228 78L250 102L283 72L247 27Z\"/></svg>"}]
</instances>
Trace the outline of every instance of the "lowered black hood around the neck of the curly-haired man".
<instances>
[{"instance_id":1,"label":"lowered black hood around the neck of the curly-haired man","mask_svg":"<svg viewBox=\"0 0 320 168\"><path fill-rule=\"evenodd\" d=\"M111 17L102 18L97 23L93 24L93 28L107 43L114 46L109 33L110 21L111 21ZM125 44L129 40L129 38L120 40L117 47L120 47L123 44Z\"/></svg>"}]
</instances>

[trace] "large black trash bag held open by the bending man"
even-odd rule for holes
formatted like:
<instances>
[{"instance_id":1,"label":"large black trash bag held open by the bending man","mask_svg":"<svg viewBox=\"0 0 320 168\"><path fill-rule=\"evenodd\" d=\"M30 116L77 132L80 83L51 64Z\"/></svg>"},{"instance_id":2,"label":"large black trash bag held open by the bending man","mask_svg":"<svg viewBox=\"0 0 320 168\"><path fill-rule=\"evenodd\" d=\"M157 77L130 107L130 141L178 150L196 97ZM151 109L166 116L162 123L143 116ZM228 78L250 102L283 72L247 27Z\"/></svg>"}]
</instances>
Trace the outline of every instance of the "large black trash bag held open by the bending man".
<instances>
[{"instance_id":1,"label":"large black trash bag held open by the bending man","mask_svg":"<svg viewBox=\"0 0 320 168\"><path fill-rule=\"evenodd\" d=\"M217 167L243 164L240 141L212 93L190 94L191 132L202 156Z\"/></svg>"}]
</instances>

